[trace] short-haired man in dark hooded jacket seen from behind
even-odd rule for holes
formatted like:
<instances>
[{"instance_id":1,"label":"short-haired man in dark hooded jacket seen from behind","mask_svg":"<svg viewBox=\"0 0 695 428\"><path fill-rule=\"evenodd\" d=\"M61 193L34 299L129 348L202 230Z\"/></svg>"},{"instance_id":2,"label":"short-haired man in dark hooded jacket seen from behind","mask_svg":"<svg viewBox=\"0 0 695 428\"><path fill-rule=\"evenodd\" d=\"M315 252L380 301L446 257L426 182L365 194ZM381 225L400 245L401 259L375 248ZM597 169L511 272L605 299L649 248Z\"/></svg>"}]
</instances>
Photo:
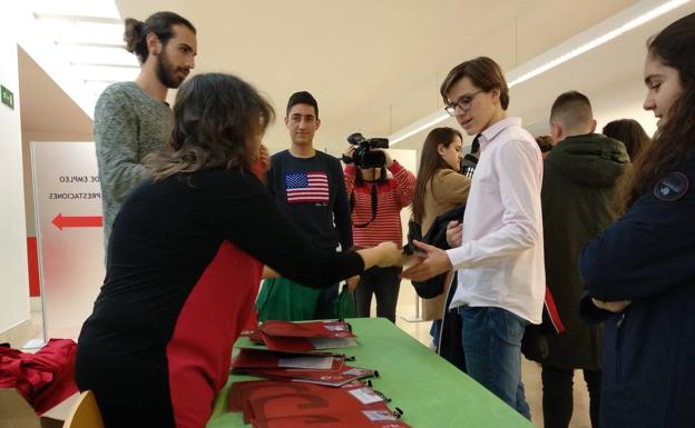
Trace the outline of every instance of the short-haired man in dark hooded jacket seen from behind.
<instances>
[{"instance_id":1,"label":"short-haired man in dark hooded jacket seen from behind","mask_svg":"<svg viewBox=\"0 0 695 428\"><path fill-rule=\"evenodd\" d=\"M577 261L584 246L618 217L616 182L629 166L623 142L594 133L588 98L562 93L552 104L554 150L545 160L541 190L546 281L566 332L548 338L542 361L546 428L567 428L572 414L572 375L584 370L591 426L598 428L601 326L579 319L585 293Z\"/></svg>"}]
</instances>

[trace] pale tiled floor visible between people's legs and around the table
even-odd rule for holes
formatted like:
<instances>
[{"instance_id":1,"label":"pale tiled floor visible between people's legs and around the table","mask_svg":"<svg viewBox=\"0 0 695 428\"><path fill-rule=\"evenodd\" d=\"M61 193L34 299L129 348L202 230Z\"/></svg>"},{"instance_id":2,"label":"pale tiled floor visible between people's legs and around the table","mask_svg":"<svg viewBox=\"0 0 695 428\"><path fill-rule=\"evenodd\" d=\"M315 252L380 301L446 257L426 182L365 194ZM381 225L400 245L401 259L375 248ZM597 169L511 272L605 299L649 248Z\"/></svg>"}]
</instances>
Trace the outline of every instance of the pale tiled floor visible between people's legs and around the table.
<instances>
[{"instance_id":1,"label":"pale tiled floor visible between people's legs and around the table","mask_svg":"<svg viewBox=\"0 0 695 428\"><path fill-rule=\"evenodd\" d=\"M374 302L372 303L374 305ZM374 310L372 310L374 312ZM417 296L409 281L403 281L401 285L401 291L399 296L399 305L397 308L398 319L397 326L408 332L410 336L419 340L423 346L428 346L431 342L430 337L430 322L413 321L417 318ZM42 319L40 312L32 312L30 322L13 329L11 336L0 336L0 341L9 341L13 346L25 346L32 339L42 338ZM540 367L531 361L523 360L521 367L521 377L526 387L527 400L531 407L531 416L534 424L542 428L542 410L541 410L541 394L542 386L540 382ZM570 422L571 428L590 428L589 422L589 401L588 394L586 391L586 385L581 377L581 372L578 371L575 376L575 411L572 420ZM51 411L52 417L61 418L69 409L71 401L61 405L59 408Z\"/></svg>"}]
</instances>

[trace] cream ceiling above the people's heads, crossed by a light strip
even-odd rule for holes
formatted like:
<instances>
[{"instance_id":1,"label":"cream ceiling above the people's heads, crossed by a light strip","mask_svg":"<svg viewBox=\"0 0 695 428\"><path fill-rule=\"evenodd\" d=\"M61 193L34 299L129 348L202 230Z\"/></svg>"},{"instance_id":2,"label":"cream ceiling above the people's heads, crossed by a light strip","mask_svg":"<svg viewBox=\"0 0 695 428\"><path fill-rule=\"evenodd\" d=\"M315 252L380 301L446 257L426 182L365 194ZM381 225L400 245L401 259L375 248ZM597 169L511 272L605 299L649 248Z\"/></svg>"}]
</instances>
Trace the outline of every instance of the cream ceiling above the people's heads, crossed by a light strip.
<instances>
[{"instance_id":1,"label":"cream ceiling above the people's heads, crossed by a light strip","mask_svg":"<svg viewBox=\"0 0 695 428\"><path fill-rule=\"evenodd\" d=\"M255 84L275 106L278 120L265 138L273 150L287 147L282 118L288 96L309 90L319 100L316 146L336 153L344 138L389 136L441 108L439 83L451 67L479 54L506 71L620 12L634 0L117 0L120 16L145 19L174 10L198 29L196 72L223 71ZM538 132L549 106L565 90L585 91L600 111L624 111L642 97L646 38L693 2L512 89L510 113ZM36 64L22 61L22 67ZM25 70L20 70L22 73ZM33 78L32 78L33 79ZM634 86L627 82L636 81ZM620 106L611 106L610 96ZM29 84L20 96L32 106L25 126L81 129L75 109L51 110L49 90ZM616 92L617 93L617 92ZM31 100L33 98L33 100ZM606 98L604 100L604 98ZM598 101L597 101L598 100ZM639 101L637 101L639 102ZM599 107L600 106L600 107ZM22 108L23 110L23 108ZM78 109L79 110L79 109ZM66 117L66 116L70 117ZM82 113L84 116L84 113ZM51 120L53 122L51 122ZM443 126L457 125L446 121ZM398 145L417 148L423 133Z\"/></svg>"}]
</instances>

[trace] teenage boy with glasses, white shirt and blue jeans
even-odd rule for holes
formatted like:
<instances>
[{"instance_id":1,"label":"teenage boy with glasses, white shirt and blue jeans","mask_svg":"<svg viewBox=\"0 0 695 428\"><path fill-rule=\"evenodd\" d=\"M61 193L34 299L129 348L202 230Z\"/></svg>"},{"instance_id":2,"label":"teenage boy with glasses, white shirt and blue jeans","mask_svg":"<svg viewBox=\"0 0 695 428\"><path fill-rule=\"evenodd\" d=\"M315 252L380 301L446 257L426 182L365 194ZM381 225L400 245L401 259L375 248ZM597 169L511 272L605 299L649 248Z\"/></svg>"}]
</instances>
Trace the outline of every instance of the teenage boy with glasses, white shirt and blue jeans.
<instances>
[{"instance_id":1,"label":"teenage boy with glasses, white shirt and blue jeans","mask_svg":"<svg viewBox=\"0 0 695 428\"><path fill-rule=\"evenodd\" d=\"M507 82L491 59L454 67L440 92L461 128L469 136L480 133L480 161L463 225L452 222L447 233L452 249L418 242L425 259L403 277L423 280L459 269L451 307L463 319L468 374L530 419L521 338L528 322L540 324L546 289L542 158L521 120L507 118Z\"/></svg>"}]
</instances>

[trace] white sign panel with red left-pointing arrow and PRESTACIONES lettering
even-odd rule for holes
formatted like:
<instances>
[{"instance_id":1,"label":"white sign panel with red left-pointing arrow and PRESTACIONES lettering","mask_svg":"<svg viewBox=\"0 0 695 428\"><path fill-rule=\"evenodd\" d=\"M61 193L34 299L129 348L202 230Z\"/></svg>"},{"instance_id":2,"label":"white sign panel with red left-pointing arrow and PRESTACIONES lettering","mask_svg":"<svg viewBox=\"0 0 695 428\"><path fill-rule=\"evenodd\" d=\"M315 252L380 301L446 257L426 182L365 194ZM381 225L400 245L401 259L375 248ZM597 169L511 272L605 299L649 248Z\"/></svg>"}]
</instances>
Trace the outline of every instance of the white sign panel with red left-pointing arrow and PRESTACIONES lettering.
<instances>
[{"instance_id":1,"label":"white sign panel with red left-pointing arrow and PRESTACIONES lettering","mask_svg":"<svg viewBox=\"0 0 695 428\"><path fill-rule=\"evenodd\" d=\"M77 338L104 281L94 142L31 143L45 337Z\"/></svg>"}]
</instances>

